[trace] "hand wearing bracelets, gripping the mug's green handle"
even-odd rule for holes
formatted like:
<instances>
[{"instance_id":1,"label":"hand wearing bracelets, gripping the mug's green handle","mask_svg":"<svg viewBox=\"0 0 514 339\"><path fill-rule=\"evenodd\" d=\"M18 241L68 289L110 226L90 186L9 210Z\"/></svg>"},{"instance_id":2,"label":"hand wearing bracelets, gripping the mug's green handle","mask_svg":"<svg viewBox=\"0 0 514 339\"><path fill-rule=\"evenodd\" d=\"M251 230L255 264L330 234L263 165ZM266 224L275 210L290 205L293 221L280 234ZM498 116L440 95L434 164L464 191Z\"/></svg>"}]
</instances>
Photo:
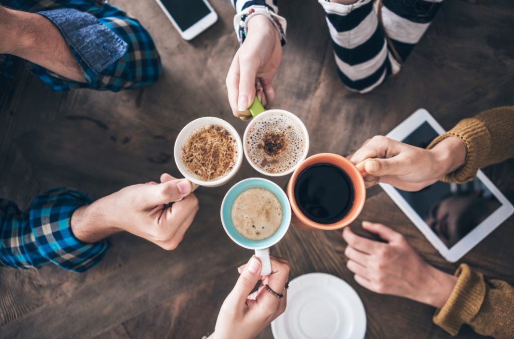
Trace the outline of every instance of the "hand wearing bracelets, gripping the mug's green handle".
<instances>
[{"instance_id":1,"label":"hand wearing bracelets, gripping the mug's green handle","mask_svg":"<svg viewBox=\"0 0 514 339\"><path fill-rule=\"evenodd\" d=\"M281 60L282 45L277 29L264 15L250 18L245 42L235 53L226 80L234 116L250 119L248 107L255 95L263 105L273 104L275 91L271 81Z\"/></svg>"}]
</instances>

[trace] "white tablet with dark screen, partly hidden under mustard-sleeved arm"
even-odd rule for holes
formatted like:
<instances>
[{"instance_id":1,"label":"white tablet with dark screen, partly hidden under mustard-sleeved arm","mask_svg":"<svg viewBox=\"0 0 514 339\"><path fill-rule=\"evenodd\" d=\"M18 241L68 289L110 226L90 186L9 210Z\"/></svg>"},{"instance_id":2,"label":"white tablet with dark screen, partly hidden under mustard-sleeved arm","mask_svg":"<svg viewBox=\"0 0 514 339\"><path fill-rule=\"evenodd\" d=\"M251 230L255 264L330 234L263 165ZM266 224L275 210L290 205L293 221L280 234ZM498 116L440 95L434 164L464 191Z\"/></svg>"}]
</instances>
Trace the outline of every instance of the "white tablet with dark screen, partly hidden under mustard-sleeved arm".
<instances>
[{"instance_id":1,"label":"white tablet with dark screen, partly hidden under mustard-sleeved arm","mask_svg":"<svg viewBox=\"0 0 514 339\"><path fill-rule=\"evenodd\" d=\"M427 147L445 133L425 109L418 109L387 136ZM514 207L484 175L465 184L438 181L418 192L380 183L439 253L454 262L470 251L514 212Z\"/></svg>"}]
</instances>

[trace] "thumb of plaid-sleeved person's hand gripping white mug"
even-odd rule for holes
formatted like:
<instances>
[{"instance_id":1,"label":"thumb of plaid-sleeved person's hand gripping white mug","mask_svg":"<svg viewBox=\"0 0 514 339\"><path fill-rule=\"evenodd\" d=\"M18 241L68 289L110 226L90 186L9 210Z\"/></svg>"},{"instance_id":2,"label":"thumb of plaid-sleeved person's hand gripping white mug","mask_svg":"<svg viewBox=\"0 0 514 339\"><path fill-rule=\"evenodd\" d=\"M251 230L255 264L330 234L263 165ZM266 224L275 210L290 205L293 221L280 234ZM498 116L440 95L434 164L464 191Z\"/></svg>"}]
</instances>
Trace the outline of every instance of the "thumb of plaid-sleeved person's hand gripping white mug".
<instances>
[{"instance_id":1,"label":"thumb of plaid-sleeved person's hand gripping white mug","mask_svg":"<svg viewBox=\"0 0 514 339\"><path fill-rule=\"evenodd\" d=\"M146 204L156 206L182 199L191 193L192 185L187 179L166 181L157 185L143 186L142 193Z\"/></svg>"}]
</instances>

